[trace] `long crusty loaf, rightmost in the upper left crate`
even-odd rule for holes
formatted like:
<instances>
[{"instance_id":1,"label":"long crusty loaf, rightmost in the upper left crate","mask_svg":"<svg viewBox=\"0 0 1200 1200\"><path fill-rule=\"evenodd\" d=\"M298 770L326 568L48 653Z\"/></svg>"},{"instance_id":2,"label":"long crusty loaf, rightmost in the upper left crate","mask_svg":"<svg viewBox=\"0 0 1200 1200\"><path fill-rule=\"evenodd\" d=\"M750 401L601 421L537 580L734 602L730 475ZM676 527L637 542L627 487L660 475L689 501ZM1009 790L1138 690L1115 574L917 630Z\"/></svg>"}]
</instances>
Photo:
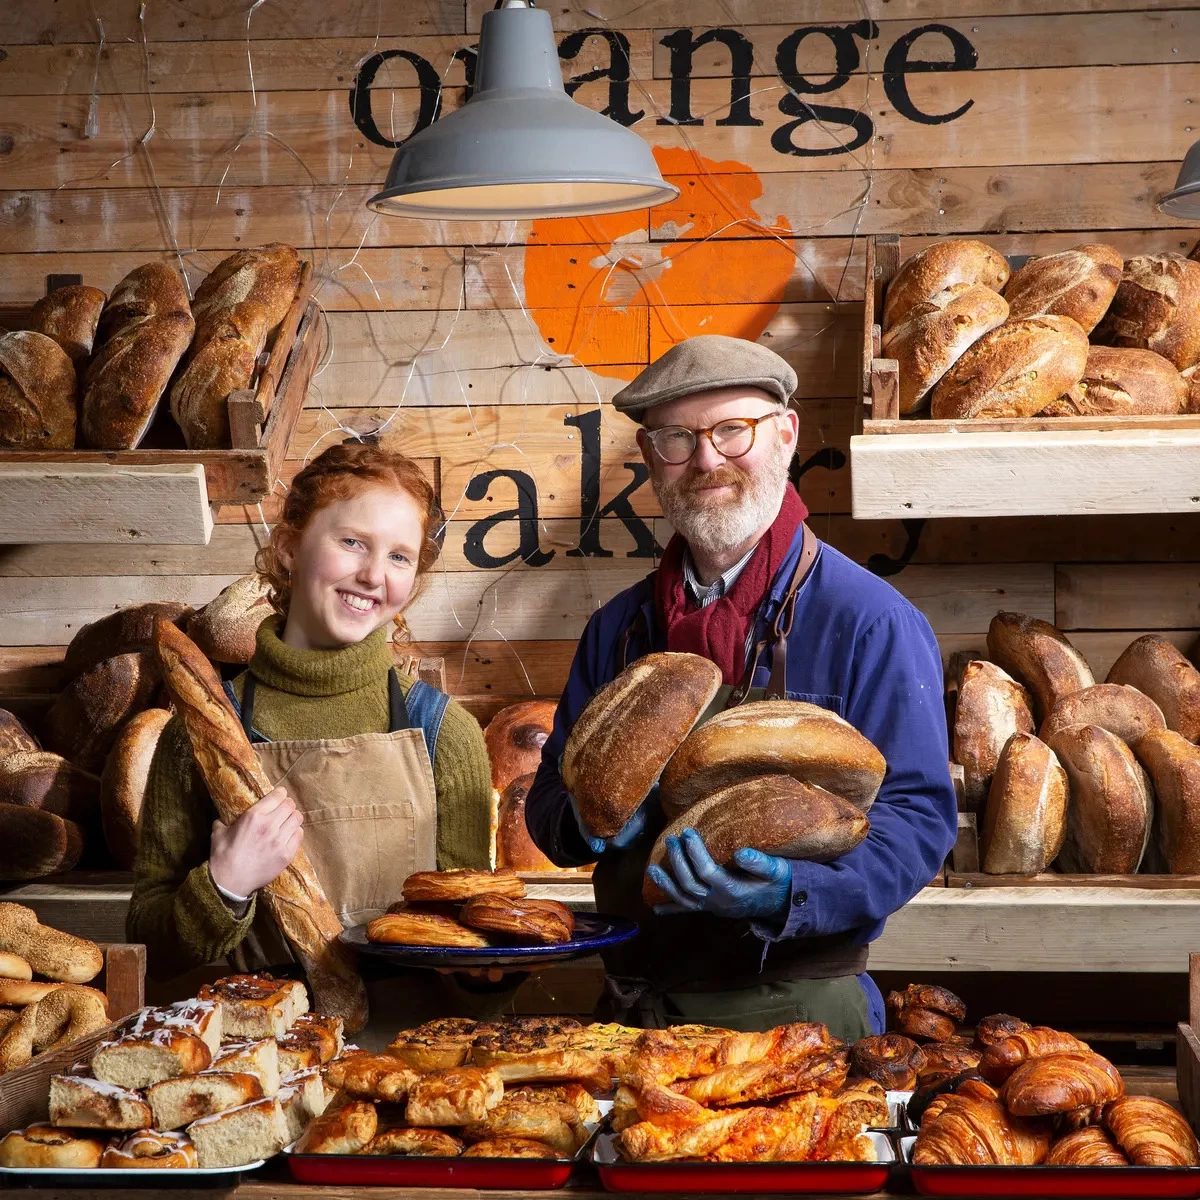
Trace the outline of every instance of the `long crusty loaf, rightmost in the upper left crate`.
<instances>
[{"instance_id":1,"label":"long crusty loaf, rightmost in the upper left crate","mask_svg":"<svg viewBox=\"0 0 1200 1200\"><path fill-rule=\"evenodd\" d=\"M217 263L196 290L196 336L170 389L170 412L192 449L228 446L229 392L248 388L268 337L295 299L300 259L272 242Z\"/></svg>"}]
</instances>

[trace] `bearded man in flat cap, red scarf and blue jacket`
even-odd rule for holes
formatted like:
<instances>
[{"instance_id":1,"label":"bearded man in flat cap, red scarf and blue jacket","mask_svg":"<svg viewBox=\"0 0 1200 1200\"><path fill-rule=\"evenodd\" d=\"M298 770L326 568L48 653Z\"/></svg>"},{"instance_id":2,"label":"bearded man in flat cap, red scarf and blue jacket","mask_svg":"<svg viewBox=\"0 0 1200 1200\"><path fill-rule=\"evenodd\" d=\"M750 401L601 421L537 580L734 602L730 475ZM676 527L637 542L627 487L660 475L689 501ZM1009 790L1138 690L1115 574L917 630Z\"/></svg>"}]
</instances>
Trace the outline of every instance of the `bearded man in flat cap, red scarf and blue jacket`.
<instances>
[{"instance_id":1,"label":"bearded man in flat cap, red scarf and blue jacket","mask_svg":"<svg viewBox=\"0 0 1200 1200\"><path fill-rule=\"evenodd\" d=\"M868 943L954 841L937 643L894 588L806 532L787 478L794 390L778 354L707 336L674 346L613 400L642 425L637 443L676 535L652 575L588 622L526 800L542 852L562 865L598 860L596 907L641 925L605 956L607 1019L743 1030L814 1020L847 1040L882 1032ZM866 840L832 863L742 850L724 869L684 830L668 839L666 869L650 868L671 896L650 912L642 875L665 823L655 792L620 833L598 839L558 764L592 696L655 650L721 667L714 710L764 694L808 701L869 738L888 769Z\"/></svg>"}]
</instances>

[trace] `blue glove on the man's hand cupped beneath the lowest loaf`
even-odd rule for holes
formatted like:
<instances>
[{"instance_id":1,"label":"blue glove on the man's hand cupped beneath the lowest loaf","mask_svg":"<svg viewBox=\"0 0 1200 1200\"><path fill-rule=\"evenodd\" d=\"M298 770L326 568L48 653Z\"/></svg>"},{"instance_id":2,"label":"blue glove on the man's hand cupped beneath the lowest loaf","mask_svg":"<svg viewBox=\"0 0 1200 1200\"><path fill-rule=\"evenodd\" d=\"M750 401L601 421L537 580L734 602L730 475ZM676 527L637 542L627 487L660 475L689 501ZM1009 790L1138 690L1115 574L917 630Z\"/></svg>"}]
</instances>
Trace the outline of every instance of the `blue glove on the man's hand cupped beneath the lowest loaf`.
<instances>
[{"instance_id":1,"label":"blue glove on the man's hand cupped beneath the lowest loaf","mask_svg":"<svg viewBox=\"0 0 1200 1200\"><path fill-rule=\"evenodd\" d=\"M654 906L659 914L710 912L716 917L763 919L787 907L792 892L792 866L760 850L739 850L733 862L739 870L718 866L695 829L667 838L667 865L650 866L650 878L671 896L671 904Z\"/></svg>"}]
</instances>

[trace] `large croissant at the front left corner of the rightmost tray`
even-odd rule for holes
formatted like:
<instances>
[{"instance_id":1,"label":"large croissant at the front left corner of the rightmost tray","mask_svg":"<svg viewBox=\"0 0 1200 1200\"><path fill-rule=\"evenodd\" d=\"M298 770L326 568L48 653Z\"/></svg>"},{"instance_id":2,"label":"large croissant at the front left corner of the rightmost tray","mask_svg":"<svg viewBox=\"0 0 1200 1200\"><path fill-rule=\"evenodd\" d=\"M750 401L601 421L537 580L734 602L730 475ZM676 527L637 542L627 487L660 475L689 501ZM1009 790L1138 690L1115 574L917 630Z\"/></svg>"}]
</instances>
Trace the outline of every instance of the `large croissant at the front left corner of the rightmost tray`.
<instances>
[{"instance_id":1,"label":"large croissant at the front left corner of the rightmost tray","mask_svg":"<svg viewBox=\"0 0 1200 1200\"><path fill-rule=\"evenodd\" d=\"M995 1100L955 1096L913 1147L918 1166L1034 1166L1050 1150L1050 1133L1009 1116Z\"/></svg>"}]
</instances>

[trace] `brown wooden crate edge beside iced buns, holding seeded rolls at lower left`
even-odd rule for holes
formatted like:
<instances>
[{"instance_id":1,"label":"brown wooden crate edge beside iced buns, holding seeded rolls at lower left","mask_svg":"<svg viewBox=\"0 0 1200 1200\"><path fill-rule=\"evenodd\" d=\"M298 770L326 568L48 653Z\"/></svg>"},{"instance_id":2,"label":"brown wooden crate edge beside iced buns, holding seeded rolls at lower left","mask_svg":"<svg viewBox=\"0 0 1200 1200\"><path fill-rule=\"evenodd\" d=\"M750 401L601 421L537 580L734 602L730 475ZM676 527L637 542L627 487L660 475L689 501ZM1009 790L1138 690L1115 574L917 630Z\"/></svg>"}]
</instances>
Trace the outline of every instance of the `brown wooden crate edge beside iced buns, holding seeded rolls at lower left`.
<instances>
[{"instance_id":1,"label":"brown wooden crate edge beside iced buns, holding seeded rolls at lower left","mask_svg":"<svg viewBox=\"0 0 1200 1200\"><path fill-rule=\"evenodd\" d=\"M101 946L101 949L104 953L103 970L88 986L100 989L108 997L110 1024L60 1050L35 1055L24 1067L0 1074L0 1134L20 1129L32 1121L44 1121L50 1096L50 1075L61 1074L80 1058L90 1057L96 1046L112 1036L118 1021L142 1007L146 948L110 943Z\"/></svg>"}]
</instances>

